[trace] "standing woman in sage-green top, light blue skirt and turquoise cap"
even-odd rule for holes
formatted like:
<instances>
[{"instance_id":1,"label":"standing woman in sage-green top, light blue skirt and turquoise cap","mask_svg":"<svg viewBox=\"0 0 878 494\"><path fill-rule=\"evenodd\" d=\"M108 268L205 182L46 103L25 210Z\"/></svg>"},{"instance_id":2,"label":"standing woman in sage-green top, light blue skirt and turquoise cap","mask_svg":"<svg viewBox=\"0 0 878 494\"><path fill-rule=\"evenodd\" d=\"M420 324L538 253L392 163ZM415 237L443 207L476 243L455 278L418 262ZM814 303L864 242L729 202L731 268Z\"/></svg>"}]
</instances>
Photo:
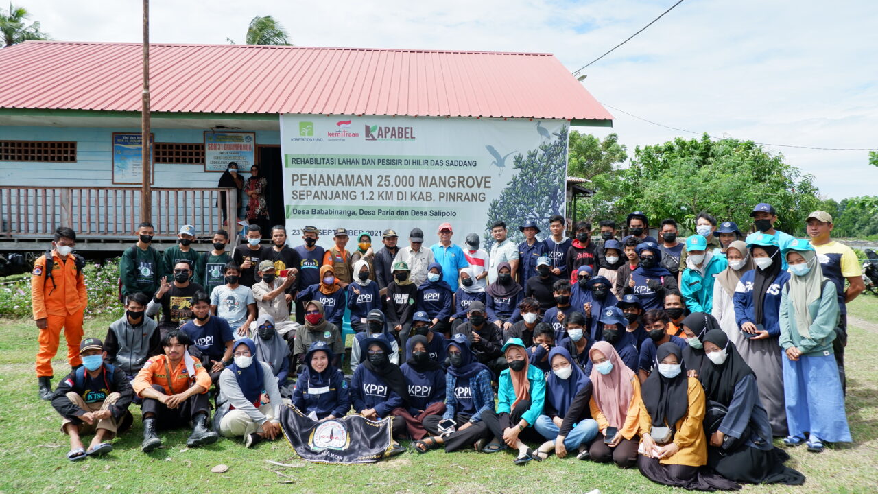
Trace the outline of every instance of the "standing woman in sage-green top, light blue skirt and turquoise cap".
<instances>
[{"instance_id":1,"label":"standing woman in sage-green top, light blue skirt and turquoise cap","mask_svg":"<svg viewBox=\"0 0 878 494\"><path fill-rule=\"evenodd\" d=\"M805 442L823 451L823 441L851 442L845 396L832 352L838 324L835 285L823 275L817 252L795 239L784 250L792 277L781 294L781 348L789 436L784 443Z\"/></svg>"}]
</instances>

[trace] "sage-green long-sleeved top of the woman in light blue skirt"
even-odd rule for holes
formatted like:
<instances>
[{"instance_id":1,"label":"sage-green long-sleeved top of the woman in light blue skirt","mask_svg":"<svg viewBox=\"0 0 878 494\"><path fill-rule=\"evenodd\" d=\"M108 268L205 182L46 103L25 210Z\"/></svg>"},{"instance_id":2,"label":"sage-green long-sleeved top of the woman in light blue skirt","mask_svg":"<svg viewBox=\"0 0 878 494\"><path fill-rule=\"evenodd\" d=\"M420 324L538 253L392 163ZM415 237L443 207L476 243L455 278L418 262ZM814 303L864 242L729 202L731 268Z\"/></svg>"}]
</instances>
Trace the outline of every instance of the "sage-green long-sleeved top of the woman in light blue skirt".
<instances>
[{"instance_id":1,"label":"sage-green long-sleeved top of the woman in light blue skirt","mask_svg":"<svg viewBox=\"0 0 878 494\"><path fill-rule=\"evenodd\" d=\"M835 285L830 280L824 282L823 294L811 302L808 310L811 314L817 313L817 317L811 323L810 338L802 338L795 327L795 309L789 298L789 285L784 285L781 290L781 348L786 351L790 346L795 346L805 356L831 355L840 310Z\"/></svg>"}]
</instances>

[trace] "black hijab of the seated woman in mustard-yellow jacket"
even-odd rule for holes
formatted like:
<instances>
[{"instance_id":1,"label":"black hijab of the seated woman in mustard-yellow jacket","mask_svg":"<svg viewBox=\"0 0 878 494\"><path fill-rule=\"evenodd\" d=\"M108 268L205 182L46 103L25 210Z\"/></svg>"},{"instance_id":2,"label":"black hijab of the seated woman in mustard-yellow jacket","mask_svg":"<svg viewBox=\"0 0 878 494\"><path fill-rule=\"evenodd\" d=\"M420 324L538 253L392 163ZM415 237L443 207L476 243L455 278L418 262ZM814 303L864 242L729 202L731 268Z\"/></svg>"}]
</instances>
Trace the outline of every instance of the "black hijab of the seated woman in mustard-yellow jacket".
<instances>
[{"instance_id":1,"label":"black hijab of the seated woman in mustard-yellow jacket","mask_svg":"<svg viewBox=\"0 0 878 494\"><path fill-rule=\"evenodd\" d=\"M668 355L676 355L680 366L683 364L683 352L675 343L667 342L656 350L656 361L661 362ZM656 367L644 381L641 396L646 410L650 412L652 425L657 427L674 427L680 418L686 415L689 408L688 378L686 371L680 371L671 379L659 373Z\"/></svg>"}]
</instances>

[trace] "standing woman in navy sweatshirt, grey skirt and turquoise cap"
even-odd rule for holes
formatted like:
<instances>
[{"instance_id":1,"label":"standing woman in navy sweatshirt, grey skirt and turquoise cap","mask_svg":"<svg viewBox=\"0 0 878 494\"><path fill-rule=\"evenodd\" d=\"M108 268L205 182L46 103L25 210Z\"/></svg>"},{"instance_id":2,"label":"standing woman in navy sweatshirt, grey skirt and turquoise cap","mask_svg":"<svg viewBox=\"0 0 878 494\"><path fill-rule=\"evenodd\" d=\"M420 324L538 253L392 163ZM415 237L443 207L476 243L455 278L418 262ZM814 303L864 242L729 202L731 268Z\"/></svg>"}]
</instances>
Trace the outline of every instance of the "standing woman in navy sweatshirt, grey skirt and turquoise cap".
<instances>
[{"instance_id":1,"label":"standing woman in navy sweatshirt, grey skirt and turquoise cap","mask_svg":"<svg viewBox=\"0 0 878 494\"><path fill-rule=\"evenodd\" d=\"M759 382L759 398L768 412L772 433L787 435L784 407L783 367L781 364L781 287L789 272L781 269L781 250L773 235L757 233L747 243L755 269L745 272L735 287L732 301L735 322L744 339L738 352Z\"/></svg>"}]
</instances>

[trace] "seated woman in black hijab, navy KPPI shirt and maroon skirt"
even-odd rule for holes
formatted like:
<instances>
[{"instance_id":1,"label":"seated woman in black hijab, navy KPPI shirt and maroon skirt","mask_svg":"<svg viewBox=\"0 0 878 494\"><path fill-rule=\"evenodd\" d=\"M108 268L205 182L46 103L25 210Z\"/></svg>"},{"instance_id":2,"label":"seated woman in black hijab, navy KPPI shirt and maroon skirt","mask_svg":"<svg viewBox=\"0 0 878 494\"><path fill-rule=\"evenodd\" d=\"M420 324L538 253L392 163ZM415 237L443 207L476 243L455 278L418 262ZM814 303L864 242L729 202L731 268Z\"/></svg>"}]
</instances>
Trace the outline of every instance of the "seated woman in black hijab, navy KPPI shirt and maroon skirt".
<instances>
[{"instance_id":1,"label":"seated woman in black hijab, navy KPPI shirt and maroon skirt","mask_svg":"<svg viewBox=\"0 0 878 494\"><path fill-rule=\"evenodd\" d=\"M395 408L392 414L406 420L412 440L428 434L424 419L445 413L445 372L442 365L430 359L427 337L415 335L406 344L407 361L399 368L408 385L408 408Z\"/></svg>"}]
</instances>

